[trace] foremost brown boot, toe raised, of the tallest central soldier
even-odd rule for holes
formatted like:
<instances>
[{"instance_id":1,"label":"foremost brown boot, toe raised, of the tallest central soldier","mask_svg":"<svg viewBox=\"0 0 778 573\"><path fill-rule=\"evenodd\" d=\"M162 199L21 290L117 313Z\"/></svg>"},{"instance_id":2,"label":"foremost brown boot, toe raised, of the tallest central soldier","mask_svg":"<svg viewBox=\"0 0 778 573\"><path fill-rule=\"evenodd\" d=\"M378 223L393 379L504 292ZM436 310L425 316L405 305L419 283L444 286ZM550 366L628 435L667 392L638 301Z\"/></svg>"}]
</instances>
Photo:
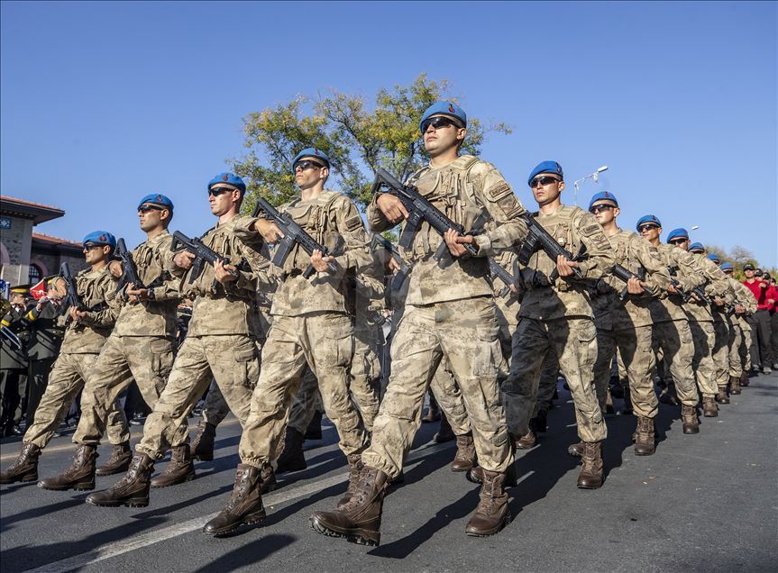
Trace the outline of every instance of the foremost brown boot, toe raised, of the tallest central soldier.
<instances>
[{"instance_id":1,"label":"foremost brown boot, toe raised, of the tallest central soldier","mask_svg":"<svg viewBox=\"0 0 778 573\"><path fill-rule=\"evenodd\" d=\"M311 528L330 537L343 537L360 545L380 543L381 511L389 487L389 476L380 469L364 466L354 495L334 512L311 515Z\"/></svg>"}]
</instances>

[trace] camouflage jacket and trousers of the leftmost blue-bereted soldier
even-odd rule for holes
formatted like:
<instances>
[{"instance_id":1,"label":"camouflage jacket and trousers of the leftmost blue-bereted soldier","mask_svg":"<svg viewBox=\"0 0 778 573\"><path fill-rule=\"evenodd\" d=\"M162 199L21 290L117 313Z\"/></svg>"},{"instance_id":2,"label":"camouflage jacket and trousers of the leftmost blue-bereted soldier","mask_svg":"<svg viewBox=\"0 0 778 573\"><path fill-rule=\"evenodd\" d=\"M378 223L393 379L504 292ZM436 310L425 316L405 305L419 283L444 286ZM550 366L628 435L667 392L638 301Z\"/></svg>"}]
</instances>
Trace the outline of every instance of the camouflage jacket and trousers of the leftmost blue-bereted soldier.
<instances>
[{"instance_id":1,"label":"camouflage jacket and trousers of the leftmost blue-bereted soldier","mask_svg":"<svg viewBox=\"0 0 778 573\"><path fill-rule=\"evenodd\" d=\"M23 441L45 448L59 423L68 413L78 392L89 384L94 372L97 354L114 327L119 314L119 303L114 294L115 285L108 268L82 270L76 277L78 296L87 312L78 323L67 323L65 337L49 375L49 386L35 411L35 423L24 433ZM83 410L91 407L87 393L81 400ZM104 418L108 441L114 445L130 440L124 412L115 402L105 405Z\"/></svg>"}]
</instances>

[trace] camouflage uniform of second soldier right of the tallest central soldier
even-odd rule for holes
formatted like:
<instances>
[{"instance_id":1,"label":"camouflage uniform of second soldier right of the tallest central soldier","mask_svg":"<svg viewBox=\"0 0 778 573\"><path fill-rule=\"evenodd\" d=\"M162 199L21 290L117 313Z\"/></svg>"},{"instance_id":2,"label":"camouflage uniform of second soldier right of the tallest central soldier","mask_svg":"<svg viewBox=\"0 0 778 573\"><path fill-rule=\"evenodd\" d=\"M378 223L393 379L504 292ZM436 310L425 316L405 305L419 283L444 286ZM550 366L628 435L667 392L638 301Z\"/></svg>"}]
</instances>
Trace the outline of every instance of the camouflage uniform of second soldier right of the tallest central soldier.
<instances>
[{"instance_id":1,"label":"camouflage uniform of second soldier right of the tallest central soldier","mask_svg":"<svg viewBox=\"0 0 778 573\"><path fill-rule=\"evenodd\" d=\"M616 263L634 274L645 269L645 293L625 295L627 285L610 275L597 283L594 297L594 322L597 325L597 360L594 363L594 383L600 408L605 408L610 379L610 365L618 347L627 367L629 395L638 416L654 418L659 402L654 392L654 348L652 317L649 310L654 298L664 298L670 283L667 267L655 257L651 245L631 231L619 230L609 236L616 253ZM627 391L627 388L625 388Z\"/></svg>"}]
</instances>

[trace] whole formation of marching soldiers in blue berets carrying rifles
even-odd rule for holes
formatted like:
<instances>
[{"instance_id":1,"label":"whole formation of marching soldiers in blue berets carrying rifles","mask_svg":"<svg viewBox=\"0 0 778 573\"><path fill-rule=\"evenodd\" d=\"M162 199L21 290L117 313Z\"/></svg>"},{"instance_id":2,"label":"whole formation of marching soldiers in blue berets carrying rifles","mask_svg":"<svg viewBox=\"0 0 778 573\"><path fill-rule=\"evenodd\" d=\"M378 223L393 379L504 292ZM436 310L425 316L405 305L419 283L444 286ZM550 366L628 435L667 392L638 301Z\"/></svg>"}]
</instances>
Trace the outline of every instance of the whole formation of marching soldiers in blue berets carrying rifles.
<instances>
[{"instance_id":1,"label":"whole formation of marching soldiers in blue berets carrying rifles","mask_svg":"<svg viewBox=\"0 0 778 573\"><path fill-rule=\"evenodd\" d=\"M183 484L197 460L214 458L218 424L232 412L241 463L204 528L229 535L265 517L262 495L277 472L306 468L304 436L323 410L349 479L310 525L378 545L384 497L402 481L430 392L430 411L443 414L436 439L456 440L452 470L481 484L465 532L490 536L510 520L514 454L545 432L560 371L575 410L577 485L594 489L605 479L613 396L635 416L635 455L650 456L660 402L680 405L684 434L699 433L700 414L726 414L719 405L749 374L778 361L778 288L761 270L746 265L737 281L685 229L663 242L654 214L637 218L636 232L619 226L611 192L586 210L564 205L556 161L530 171L537 210L527 212L494 165L460 155L467 116L458 105L432 105L419 129L429 164L406 181L379 170L365 214L373 234L350 198L325 188L330 160L315 148L292 161L300 195L278 209L261 199L240 214L246 186L223 173L207 184L215 226L201 237L169 232L174 205L160 194L138 204L147 238L134 250L89 233L86 270L63 265L37 305L8 305L3 318L5 363L21 325L59 315L65 331L0 484L39 479L41 452L80 393L72 464L38 487L93 490L96 476L124 474L87 504L146 506L152 487ZM398 225L395 245L380 233ZM117 405L133 381L151 408L134 451ZM204 395L190 441L188 417ZM98 467L105 434L112 453Z\"/></svg>"}]
</instances>

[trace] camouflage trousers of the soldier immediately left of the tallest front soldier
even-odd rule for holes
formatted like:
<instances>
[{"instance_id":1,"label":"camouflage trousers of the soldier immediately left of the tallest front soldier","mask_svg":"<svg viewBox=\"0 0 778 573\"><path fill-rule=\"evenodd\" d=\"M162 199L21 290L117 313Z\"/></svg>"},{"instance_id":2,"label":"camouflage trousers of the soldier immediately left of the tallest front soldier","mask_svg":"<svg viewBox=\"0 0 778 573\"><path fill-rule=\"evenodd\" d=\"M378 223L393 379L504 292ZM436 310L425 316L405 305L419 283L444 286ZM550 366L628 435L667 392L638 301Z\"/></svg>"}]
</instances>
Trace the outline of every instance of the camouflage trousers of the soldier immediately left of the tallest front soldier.
<instances>
[{"instance_id":1,"label":"camouflage trousers of the soldier immediately left of the tallest front soldier","mask_svg":"<svg viewBox=\"0 0 778 573\"><path fill-rule=\"evenodd\" d=\"M349 396L348 368L353 356L352 319L346 314L276 316L262 350L262 372L243 428L240 456L261 468L279 449L289 406L309 367L318 380L327 418L346 455L358 453L368 439Z\"/></svg>"}]
</instances>

